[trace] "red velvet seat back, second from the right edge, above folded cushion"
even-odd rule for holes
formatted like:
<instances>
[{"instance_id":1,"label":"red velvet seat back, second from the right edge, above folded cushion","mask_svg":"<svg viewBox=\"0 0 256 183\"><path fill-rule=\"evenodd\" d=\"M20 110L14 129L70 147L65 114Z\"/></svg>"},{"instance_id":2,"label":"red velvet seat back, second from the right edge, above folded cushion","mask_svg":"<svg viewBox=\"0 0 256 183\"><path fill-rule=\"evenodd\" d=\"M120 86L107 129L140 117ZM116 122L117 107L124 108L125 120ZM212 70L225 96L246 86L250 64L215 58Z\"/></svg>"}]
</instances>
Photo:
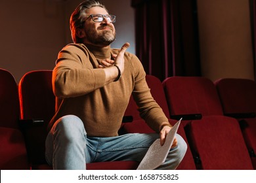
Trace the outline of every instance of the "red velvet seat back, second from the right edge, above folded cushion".
<instances>
[{"instance_id":1,"label":"red velvet seat back, second from the right edge, above folded cushion","mask_svg":"<svg viewBox=\"0 0 256 183\"><path fill-rule=\"evenodd\" d=\"M163 81L171 115L223 115L213 82L203 77L173 76Z\"/></svg>"}]
</instances>

